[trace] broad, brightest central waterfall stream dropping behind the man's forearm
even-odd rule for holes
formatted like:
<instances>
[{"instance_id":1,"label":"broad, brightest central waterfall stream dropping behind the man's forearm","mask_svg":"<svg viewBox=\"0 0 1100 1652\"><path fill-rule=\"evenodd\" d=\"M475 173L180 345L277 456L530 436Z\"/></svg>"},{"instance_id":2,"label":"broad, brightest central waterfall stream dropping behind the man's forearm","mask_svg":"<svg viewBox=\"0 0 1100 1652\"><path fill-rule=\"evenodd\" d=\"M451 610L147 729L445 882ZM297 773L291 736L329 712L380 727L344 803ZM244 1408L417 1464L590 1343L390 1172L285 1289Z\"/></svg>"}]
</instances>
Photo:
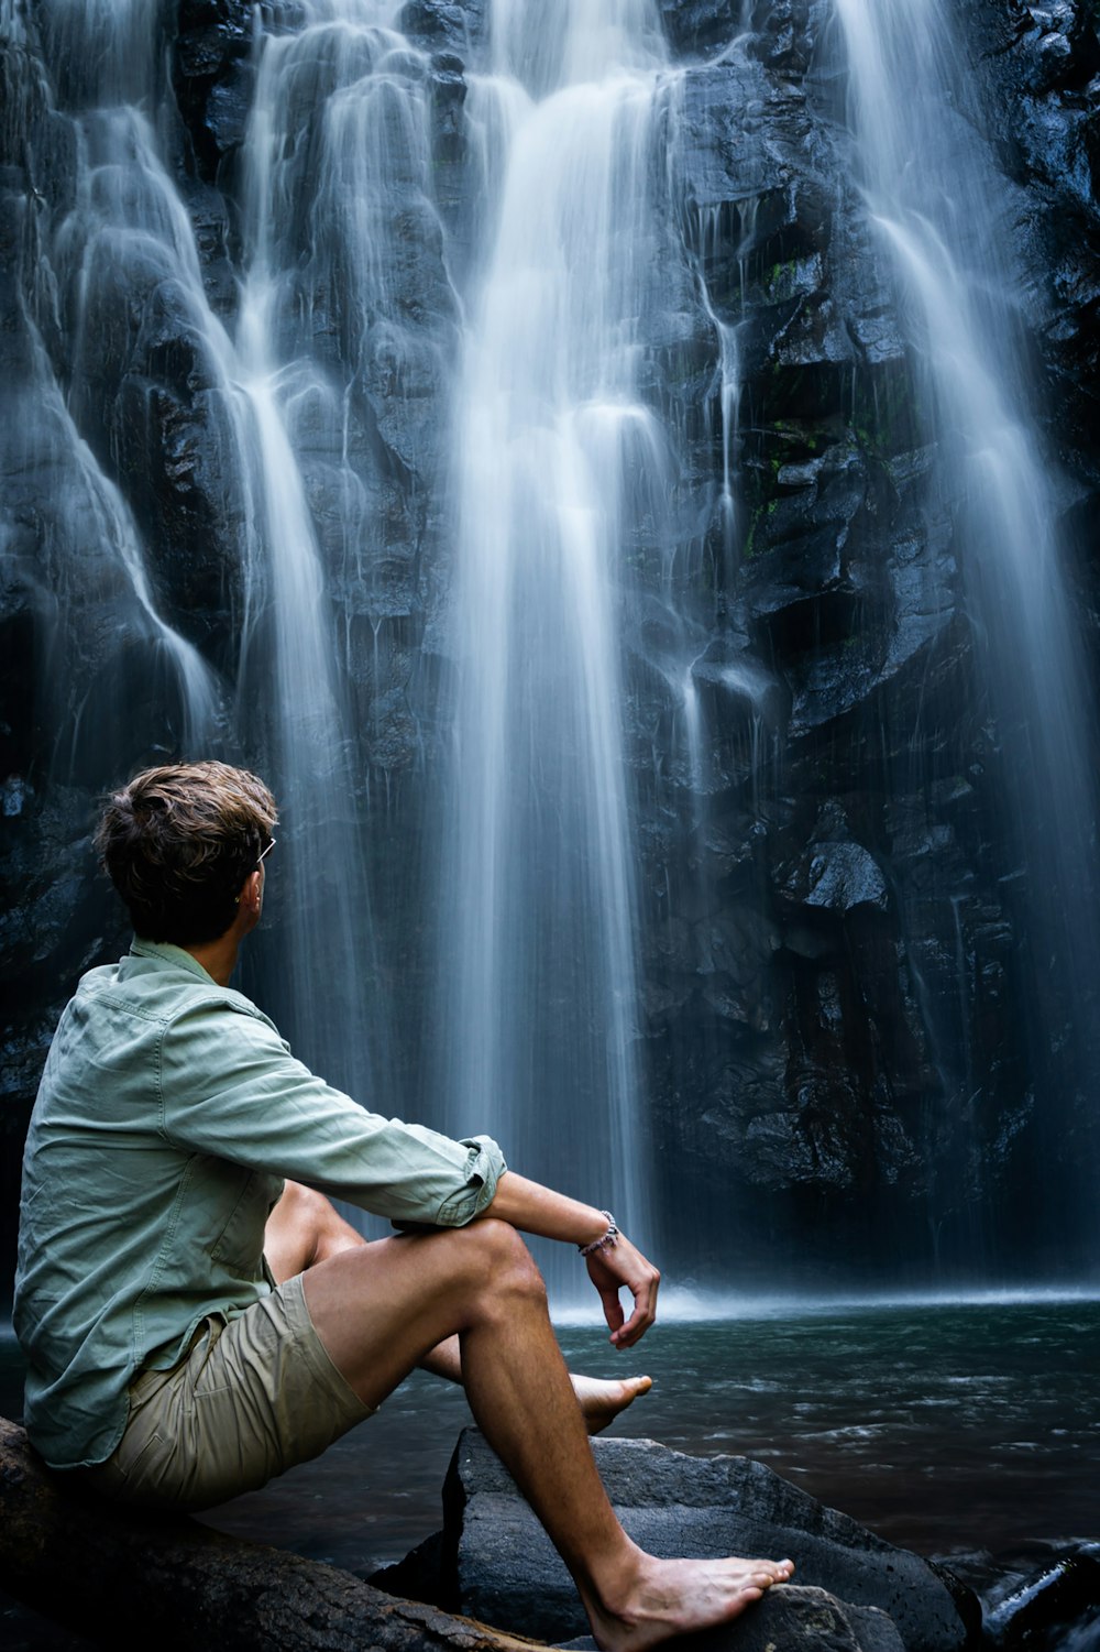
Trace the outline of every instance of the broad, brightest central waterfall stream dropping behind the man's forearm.
<instances>
[{"instance_id":1,"label":"broad, brightest central waterfall stream dropping behind the man's forearm","mask_svg":"<svg viewBox=\"0 0 1100 1652\"><path fill-rule=\"evenodd\" d=\"M499 180L458 390L444 857L453 1128L646 1224L618 580L644 405L656 8L497 0L471 134ZM495 139L495 150L489 147Z\"/></svg>"}]
</instances>

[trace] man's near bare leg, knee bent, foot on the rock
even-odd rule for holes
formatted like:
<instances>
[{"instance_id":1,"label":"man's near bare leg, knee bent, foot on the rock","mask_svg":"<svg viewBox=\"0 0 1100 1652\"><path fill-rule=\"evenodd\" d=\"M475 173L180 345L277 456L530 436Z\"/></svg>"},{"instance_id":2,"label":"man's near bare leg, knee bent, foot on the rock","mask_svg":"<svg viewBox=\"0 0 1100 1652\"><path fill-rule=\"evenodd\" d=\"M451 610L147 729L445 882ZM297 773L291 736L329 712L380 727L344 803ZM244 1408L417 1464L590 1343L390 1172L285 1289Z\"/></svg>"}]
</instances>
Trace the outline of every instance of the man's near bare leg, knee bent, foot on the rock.
<instances>
[{"instance_id":1,"label":"man's near bare leg, knee bent, foot on the rock","mask_svg":"<svg viewBox=\"0 0 1100 1652\"><path fill-rule=\"evenodd\" d=\"M619 1526L530 1254L507 1222L348 1247L304 1275L330 1358L378 1406L458 1333L474 1417L576 1579L608 1652L641 1649L735 1617L789 1561L659 1561Z\"/></svg>"}]
</instances>

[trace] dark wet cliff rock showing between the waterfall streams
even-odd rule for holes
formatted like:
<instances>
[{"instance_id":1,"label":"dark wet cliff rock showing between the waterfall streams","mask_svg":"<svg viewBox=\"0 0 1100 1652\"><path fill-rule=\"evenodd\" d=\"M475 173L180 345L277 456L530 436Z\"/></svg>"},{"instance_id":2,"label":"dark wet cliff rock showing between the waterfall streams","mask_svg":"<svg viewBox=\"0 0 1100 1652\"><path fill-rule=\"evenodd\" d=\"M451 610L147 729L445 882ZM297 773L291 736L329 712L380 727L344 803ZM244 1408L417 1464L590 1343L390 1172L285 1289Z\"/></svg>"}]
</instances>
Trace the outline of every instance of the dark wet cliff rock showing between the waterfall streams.
<instances>
[{"instance_id":1,"label":"dark wet cliff rock showing between the waterfall streams","mask_svg":"<svg viewBox=\"0 0 1100 1652\"><path fill-rule=\"evenodd\" d=\"M291 25L292 7L277 10ZM824 0L745 8L730 51L728 0L662 0L676 89L676 233L652 258L661 312L646 317L644 382L676 431L666 578L656 529L624 547L628 752L641 890L638 1036L654 1161L672 1211L685 1180L718 1260L770 1234L768 1262L808 1224L837 1257L889 1213L897 1252L950 1252L968 1211L1026 1181L1039 1128L1019 1013L1016 867L999 821L1011 732L991 727L961 598L953 502L935 459L882 259L867 243L842 144L844 89ZM1021 314L1041 375L1039 413L1079 529L1080 590L1095 610L1090 537L1100 479L1095 208L1098 76L1085 0L968 0L996 185L1021 268ZM449 530L444 430L458 339L451 274L469 261L462 106L486 8L410 0L401 28L429 88L438 220L408 211L400 268L403 373L385 349L348 387L340 428L302 405L296 443L332 600L347 638L360 762L386 800L378 923L393 968L431 961L405 867L434 800L446 697ZM231 325L241 249L239 147L254 93L253 7L168 8L173 182L197 231L206 294ZM225 406L195 347L185 296L140 248L91 269L94 325L76 337L50 294L74 200L76 142L28 45L0 51L0 383L5 411L5 839L2 958L10 995L13 1132L73 975L121 923L84 872L102 773L51 778L64 677L119 727L119 768L172 748L178 717L149 686L147 624L117 562L74 542L51 501L71 486L20 446L35 350L122 491L149 545L160 611L233 689L248 515ZM178 116L178 117L177 117ZM309 122L304 117L302 132ZM307 190L306 190L307 195ZM446 254L446 256L444 256ZM358 325L315 269L277 325L339 377ZM33 319L33 329L28 327ZM307 317L307 320L304 320ZM725 350L725 355L723 355ZM723 415L723 373L737 387ZM334 458L362 479L348 529ZM66 471L68 466L68 471ZM735 476L723 502L723 474ZM79 591L61 563L81 562ZM677 610L671 636L669 583ZM74 613L73 610L79 610ZM692 639L700 740L669 687ZM61 651L64 672L55 669ZM132 661L122 669L119 659ZM111 694L106 684L114 684ZM0 776L2 778L2 776ZM97 889L99 885L96 885ZM111 925L107 938L107 925ZM418 1029L405 1039L415 1094ZM676 1219L671 1222L676 1227ZM1029 1236L1021 1232L1021 1244ZM884 1254L884 1264L890 1257ZM765 1265L761 1259L761 1265Z\"/></svg>"}]
</instances>

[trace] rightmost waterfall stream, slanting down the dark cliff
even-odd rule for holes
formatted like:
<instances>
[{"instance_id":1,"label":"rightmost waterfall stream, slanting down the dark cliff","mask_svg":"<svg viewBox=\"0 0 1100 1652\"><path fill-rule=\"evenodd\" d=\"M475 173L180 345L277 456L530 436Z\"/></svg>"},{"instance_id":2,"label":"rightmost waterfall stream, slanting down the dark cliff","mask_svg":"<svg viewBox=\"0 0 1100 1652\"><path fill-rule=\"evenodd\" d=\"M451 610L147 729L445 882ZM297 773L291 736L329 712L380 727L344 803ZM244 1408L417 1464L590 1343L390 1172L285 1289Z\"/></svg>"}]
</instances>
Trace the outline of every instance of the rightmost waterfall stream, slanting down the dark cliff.
<instances>
[{"instance_id":1,"label":"rightmost waterfall stream, slanting down the dark cliff","mask_svg":"<svg viewBox=\"0 0 1100 1652\"><path fill-rule=\"evenodd\" d=\"M1032 1079L1057 1142L1074 1092L1095 1092L1100 966L1092 684L1065 585L1057 464L1034 423L1003 197L951 7L836 0L836 17L867 220L897 278L936 482L958 502L974 649L1004 743L1008 841L1027 882ZM1029 1198L1079 1241L1095 1231L1072 1155L1037 1166Z\"/></svg>"}]
</instances>

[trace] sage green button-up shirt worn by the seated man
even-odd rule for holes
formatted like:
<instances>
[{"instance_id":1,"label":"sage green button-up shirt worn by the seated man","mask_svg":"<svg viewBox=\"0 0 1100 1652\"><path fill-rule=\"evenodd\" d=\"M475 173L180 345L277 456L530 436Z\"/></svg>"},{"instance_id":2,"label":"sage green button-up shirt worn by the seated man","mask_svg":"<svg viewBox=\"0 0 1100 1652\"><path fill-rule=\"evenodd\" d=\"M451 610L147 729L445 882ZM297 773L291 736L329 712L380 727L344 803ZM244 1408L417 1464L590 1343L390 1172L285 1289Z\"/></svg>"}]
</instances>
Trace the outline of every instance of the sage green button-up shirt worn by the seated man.
<instances>
[{"instance_id":1,"label":"sage green button-up shirt worn by the seated man","mask_svg":"<svg viewBox=\"0 0 1100 1652\"><path fill-rule=\"evenodd\" d=\"M134 1374L271 1290L264 1222L284 1176L461 1227L504 1168L487 1137L365 1112L190 953L135 940L66 1006L26 1138L13 1317L31 1441L58 1469L102 1462Z\"/></svg>"}]
</instances>

